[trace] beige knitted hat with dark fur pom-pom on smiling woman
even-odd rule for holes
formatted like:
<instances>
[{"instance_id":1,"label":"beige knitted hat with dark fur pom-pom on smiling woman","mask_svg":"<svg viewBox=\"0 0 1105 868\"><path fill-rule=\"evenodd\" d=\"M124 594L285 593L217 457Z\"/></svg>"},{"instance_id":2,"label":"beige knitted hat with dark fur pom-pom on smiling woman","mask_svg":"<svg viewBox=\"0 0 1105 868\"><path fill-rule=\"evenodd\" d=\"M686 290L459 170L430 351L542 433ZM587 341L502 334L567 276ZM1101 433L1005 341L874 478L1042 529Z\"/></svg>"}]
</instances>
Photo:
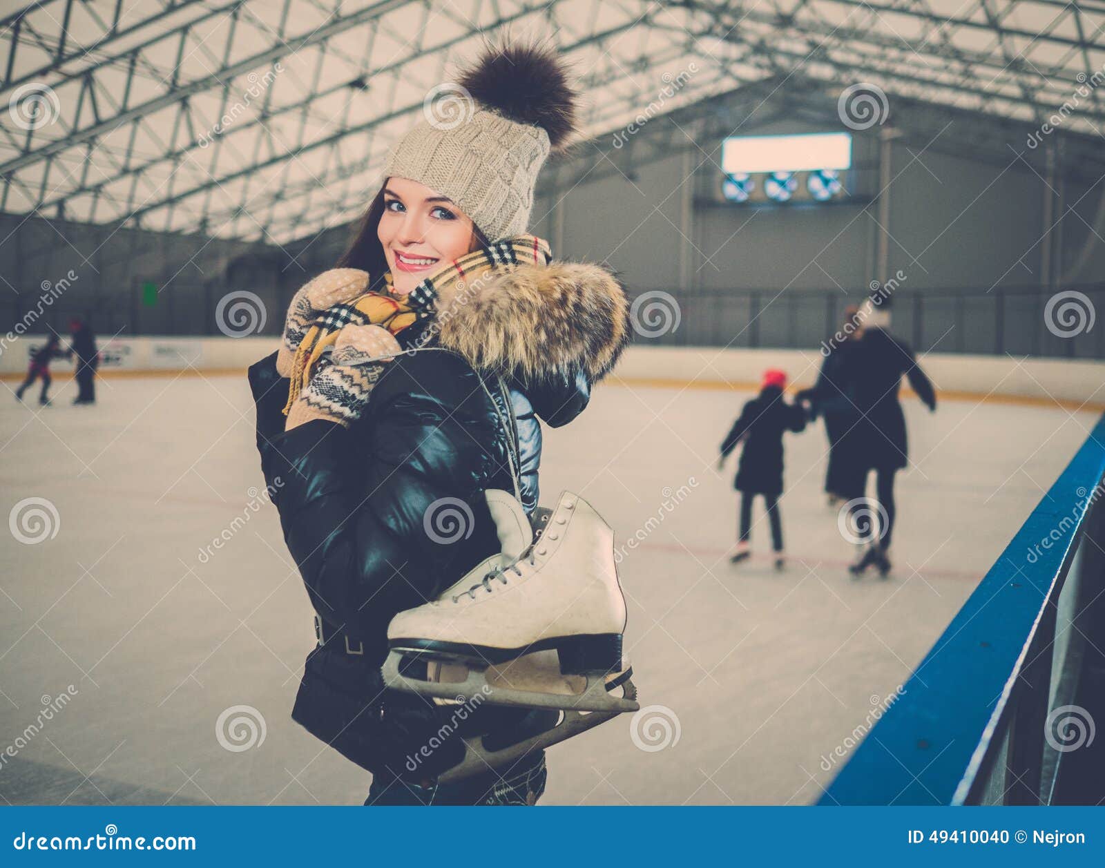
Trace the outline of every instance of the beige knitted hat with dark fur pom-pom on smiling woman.
<instances>
[{"instance_id":1,"label":"beige knitted hat with dark fur pom-pom on smiling woman","mask_svg":"<svg viewBox=\"0 0 1105 868\"><path fill-rule=\"evenodd\" d=\"M455 83L423 103L425 118L391 151L381 174L448 195L490 241L526 231L537 174L576 129L576 93L556 50L487 46Z\"/></svg>"}]
</instances>

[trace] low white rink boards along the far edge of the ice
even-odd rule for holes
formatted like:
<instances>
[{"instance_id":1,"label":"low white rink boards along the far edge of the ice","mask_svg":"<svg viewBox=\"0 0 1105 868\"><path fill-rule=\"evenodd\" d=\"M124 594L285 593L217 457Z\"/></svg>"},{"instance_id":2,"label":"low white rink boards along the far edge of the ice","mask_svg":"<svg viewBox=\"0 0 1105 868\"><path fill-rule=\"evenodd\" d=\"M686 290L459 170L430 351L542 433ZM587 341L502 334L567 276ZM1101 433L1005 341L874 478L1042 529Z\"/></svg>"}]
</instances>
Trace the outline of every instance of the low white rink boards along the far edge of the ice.
<instances>
[{"instance_id":1,"label":"low white rink boards along the far edge of the ice","mask_svg":"<svg viewBox=\"0 0 1105 868\"><path fill-rule=\"evenodd\" d=\"M165 373L194 370L220 373L244 371L278 346L276 337L110 338L101 341L102 373ZM6 379L27 371L31 349L41 336L0 341L0 374ZM619 363L617 379L654 384L718 388L749 387L768 368L780 368L794 385L811 385L822 356L819 349L719 349L633 346ZM929 353L920 360L937 391L1006 398L1054 399L1105 404L1105 362L1073 359L1014 359L1009 356ZM65 375L72 362L54 360L52 371Z\"/></svg>"}]
</instances>

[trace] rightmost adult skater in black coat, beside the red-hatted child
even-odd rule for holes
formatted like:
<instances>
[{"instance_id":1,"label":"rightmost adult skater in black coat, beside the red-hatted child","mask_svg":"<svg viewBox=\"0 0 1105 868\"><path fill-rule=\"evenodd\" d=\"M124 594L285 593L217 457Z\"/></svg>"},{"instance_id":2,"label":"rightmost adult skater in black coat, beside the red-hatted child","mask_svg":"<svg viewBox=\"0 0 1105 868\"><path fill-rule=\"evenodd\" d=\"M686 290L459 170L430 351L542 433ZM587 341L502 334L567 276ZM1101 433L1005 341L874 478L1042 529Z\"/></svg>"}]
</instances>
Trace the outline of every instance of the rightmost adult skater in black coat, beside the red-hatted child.
<instances>
[{"instance_id":1,"label":"rightmost adult skater in black coat, beside the red-hatted child","mask_svg":"<svg viewBox=\"0 0 1105 868\"><path fill-rule=\"evenodd\" d=\"M891 569L890 547L894 532L894 474L908 464L909 445L905 414L898 401L902 375L929 411L936 410L936 392L917 364L913 350L884 328L865 328L853 338L851 369L853 395L861 413L844 436L855 459L855 474L848 491L850 527L857 531L859 558L849 569L861 575L875 567L882 575ZM875 504L865 497L867 475L875 472Z\"/></svg>"}]
</instances>

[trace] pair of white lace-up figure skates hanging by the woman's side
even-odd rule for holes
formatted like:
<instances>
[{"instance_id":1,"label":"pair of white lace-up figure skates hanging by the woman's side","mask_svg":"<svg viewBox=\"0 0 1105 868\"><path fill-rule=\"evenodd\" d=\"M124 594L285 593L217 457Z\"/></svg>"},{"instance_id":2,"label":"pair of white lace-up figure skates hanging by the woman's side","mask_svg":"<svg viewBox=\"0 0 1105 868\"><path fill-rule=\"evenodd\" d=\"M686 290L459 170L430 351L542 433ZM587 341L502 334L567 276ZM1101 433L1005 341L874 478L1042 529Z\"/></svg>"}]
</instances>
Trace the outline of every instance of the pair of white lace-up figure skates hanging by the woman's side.
<instances>
[{"instance_id":1,"label":"pair of white lace-up figure skates hanging by the woman's side","mask_svg":"<svg viewBox=\"0 0 1105 868\"><path fill-rule=\"evenodd\" d=\"M396 615L388 686L454 702L565 711L556 729L537 737L547 738L540 747L636 711L622 659L625 600L610 527L566 491L535 541L514 497L493 489L486 498L501 552L438 600ZM599 713L580 713L588 711ZM524 753L536 745L516 747Z\"/></svg>"}]
</instances>

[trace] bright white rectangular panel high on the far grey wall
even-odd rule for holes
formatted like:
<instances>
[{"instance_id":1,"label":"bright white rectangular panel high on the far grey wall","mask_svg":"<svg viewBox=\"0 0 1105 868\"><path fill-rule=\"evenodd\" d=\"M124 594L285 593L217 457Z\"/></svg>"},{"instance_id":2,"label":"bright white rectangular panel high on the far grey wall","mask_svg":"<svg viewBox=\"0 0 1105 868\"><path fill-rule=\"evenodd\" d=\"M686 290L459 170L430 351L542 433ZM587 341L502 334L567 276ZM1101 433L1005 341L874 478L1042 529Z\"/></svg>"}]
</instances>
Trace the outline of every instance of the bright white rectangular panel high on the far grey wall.
<instances>
[{"instance_id":1,"label":"bright white rectangular panel high on the far grey wall","mask_svg":"<svg viewBox=\"0 0 1105 868\"><path fill-rule=\"evenodd\" d=\"M722 142L722 170L729 176L757 172L806 172L849 169L850 133L794 136L734 136Z\"/></svg>"}]
</instances>

